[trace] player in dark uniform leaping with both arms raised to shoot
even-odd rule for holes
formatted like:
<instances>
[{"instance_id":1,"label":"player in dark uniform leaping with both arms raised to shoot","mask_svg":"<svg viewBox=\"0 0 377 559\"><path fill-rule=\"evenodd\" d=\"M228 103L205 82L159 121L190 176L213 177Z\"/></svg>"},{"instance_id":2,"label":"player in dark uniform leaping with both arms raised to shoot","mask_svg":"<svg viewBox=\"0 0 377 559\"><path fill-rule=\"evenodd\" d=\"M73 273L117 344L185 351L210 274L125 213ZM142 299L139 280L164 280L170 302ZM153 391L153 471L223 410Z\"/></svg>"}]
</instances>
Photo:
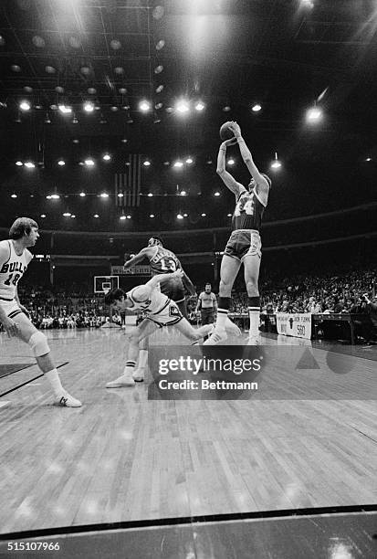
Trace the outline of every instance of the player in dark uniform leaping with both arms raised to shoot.
<instances>
[{"instance_id":1,"label":"player in dark uniform leaping with both arms raised to shoot","mask_svg":"<svg viewBox=\"0 0 377 559\"><path fill-rule=\"evenodd\" d=\"M241 129L236 122L229 122L228 128L234 138L221 143L217 156L216 172L223 183L236 196L236 208L232 217L232 233L226 244L225 254L220 269L220 290L215 331L204 345L224 343L226 340L225 322L229 312L231 293L241 264L244 264L245 283L248 297L248 313L250 319L248 344L257 345L259 338L260 298L258 290L259 267L261 260L260 227L262 216L268 202L271 179L267 174L259 173ZM251 174L246 186L236 181L232 174L225 170L225 155L228 145L238 143L242 159Z\"/></svg>"}]
</instances>

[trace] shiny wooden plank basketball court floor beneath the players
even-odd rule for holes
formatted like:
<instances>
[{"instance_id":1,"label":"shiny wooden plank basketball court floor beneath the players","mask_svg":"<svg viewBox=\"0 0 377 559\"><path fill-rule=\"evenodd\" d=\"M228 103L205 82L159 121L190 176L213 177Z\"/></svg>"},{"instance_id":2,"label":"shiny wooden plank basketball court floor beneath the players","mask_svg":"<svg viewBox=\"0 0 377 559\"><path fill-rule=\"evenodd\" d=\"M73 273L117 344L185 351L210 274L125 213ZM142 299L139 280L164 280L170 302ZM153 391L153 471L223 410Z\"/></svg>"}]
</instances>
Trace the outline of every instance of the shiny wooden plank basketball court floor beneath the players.
<instances>
[{"instance_id":1,"label":"shiny wooden plank basketball court floor beneath the players","mask_svg":"<svg viewBox=\"0 0 377 559\"><path fill-rule=\"evenodd\" d=\"M0 371L31 364L0 377L1 533L376 502L371 358L342 355L344 374L334 374L329 354L306 343L326 376L315 398L299 397L318 374L306 367L294 398L152 401L148 379L105 388L122 371L120 329L47 337L63 384L83 406L53 406L28 347L0 334ZM157 332L152 343L183 342ZM275 378L287 374L277 365ZM340 377L347 397L330 398Z\"/></svg>"}]
</instances>

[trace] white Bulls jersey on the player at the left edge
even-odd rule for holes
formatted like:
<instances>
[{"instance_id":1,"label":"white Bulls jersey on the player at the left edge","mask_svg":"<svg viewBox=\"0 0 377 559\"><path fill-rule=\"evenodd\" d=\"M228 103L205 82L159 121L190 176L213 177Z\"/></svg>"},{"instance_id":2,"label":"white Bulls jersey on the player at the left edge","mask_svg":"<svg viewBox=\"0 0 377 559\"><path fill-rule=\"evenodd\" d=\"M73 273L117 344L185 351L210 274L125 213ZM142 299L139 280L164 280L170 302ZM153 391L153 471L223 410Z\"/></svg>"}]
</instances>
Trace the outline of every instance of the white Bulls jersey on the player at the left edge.
<instances>
[{"instance_id":1,"label":"white Bulls jersey on the player at the left edge","mask_svg":"<svg viewBox=\"0 0 377 559\"><path fill-rule=\"evenodd\" d=\"M11 240L0 241L0 246L9 250L9 258L0 268L0 301L12 301L16 296L17 283L25 274L32 256L27 248L18 256Z\"/></svg>"}]
</instances>

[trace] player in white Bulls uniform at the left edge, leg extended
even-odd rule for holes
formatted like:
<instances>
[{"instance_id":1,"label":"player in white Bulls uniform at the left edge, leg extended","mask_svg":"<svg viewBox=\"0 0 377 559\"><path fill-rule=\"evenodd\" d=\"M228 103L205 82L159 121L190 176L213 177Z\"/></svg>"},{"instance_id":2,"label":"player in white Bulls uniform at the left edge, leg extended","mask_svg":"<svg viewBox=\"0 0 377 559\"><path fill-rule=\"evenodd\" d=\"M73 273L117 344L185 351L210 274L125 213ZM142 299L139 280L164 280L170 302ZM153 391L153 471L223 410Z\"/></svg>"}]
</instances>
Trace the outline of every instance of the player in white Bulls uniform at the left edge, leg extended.
<instances>
[{"instance_id":1,"label":"player in white Bulls uniform at the left edge, leg extended","mask_svg":"<svg viewBox=\"0 0 377 559\"><path fill-rule=\"evenodd\" d=\"M32 349L37 364L46 376L60 406L79 407L81 402L70 396L60 383L52 361L46 336L38 332L28 318L26 308L17 295L17 283L33 258L28 247L34 247L39 237L38 226L29 217L16 219L9 239L0 241L0 322L9 336L16 336Z\"/></svg>"}]
</instances>

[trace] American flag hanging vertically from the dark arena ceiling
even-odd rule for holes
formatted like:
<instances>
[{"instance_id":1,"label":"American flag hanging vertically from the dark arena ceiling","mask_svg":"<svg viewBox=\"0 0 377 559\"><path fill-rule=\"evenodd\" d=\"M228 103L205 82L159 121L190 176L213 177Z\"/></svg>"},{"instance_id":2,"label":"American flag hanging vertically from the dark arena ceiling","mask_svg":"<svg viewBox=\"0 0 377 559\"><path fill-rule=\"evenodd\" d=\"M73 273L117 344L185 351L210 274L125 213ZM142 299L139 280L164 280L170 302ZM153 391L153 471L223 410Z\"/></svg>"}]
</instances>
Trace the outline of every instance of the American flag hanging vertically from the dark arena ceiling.
<instances>
[{"instance_id":1,"label":"American flag hanging vertically from the dark arena ceiling","mask_svg":"<svg viewBox=\"0 0 377 559\"><path fill-rule=\"evenodd\" d=\"M118 207L140 206L141 155L130 153L114 175L115 204ZM122 196L119 196L122 194Z\"/></svg>"}]
</instances>

